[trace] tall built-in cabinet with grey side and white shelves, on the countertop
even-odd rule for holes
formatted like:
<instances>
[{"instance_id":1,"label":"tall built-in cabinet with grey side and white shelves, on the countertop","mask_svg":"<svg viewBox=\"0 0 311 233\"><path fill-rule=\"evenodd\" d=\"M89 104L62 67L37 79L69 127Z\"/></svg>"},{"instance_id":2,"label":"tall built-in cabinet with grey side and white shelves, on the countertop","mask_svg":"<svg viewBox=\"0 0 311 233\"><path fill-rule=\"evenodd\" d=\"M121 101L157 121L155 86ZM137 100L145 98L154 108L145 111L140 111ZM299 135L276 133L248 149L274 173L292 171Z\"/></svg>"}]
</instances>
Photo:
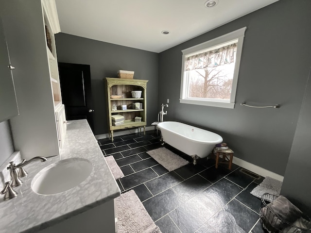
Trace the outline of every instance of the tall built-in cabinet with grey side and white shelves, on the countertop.
<instances>
[{"instance_id":1,"label":"tall built-in cabinet with grey side and white shelves, on the countertop","mask_svg":"<svg viewBox=\"0 0 311 233\"><path fill-rule=\"evenodd\" d=\"M55 1L1 1L0 12L11 63L16 67L19 116L10 120L15 150L24 159L59 155L66 116L54 39L60 32Z\"/></svg>"}]
</instances>

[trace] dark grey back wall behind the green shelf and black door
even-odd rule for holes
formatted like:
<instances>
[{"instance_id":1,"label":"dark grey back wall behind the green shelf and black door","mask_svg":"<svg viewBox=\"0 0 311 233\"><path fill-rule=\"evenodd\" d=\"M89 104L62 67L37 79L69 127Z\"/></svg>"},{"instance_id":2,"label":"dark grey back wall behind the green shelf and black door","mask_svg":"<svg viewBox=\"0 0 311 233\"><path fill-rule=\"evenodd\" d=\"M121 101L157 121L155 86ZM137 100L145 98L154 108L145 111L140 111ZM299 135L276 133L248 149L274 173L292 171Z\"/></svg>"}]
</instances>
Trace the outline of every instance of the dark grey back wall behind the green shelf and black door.
<instances>
[{"instance_id":1,"label":"dark grey back wall behind the green shelf and black door","mask_svg":"<svg viewBox=\"0 0 311 233\"><path fill-rule=\"evenodd\" d=\"M108 133L105 77L117 77L117 71L133 70L134 79L147 83L147 126L157 117L158 54L114 45L79 36L59 33L56 37L58 62L90 65L94 112L94 134Z\"/></svg>"}]
</instances>

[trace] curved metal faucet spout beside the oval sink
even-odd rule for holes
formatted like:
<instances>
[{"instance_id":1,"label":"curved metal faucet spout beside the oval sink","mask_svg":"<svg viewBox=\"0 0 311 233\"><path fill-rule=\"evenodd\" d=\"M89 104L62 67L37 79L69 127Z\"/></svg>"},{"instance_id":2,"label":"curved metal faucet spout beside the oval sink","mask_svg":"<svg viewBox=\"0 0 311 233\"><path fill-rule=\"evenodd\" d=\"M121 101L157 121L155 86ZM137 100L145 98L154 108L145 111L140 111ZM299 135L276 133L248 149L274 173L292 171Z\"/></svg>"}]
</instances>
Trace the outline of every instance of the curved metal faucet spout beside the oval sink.
<instances>
[{"instance_id":1,"label":"curved metal faucet spout beside the oval sink","mask_svg":"<svg viewBox=\"0 0 311 233\"><path fill-rule=\"evenodd\" d=\"M23 182L19 179L19 177L24 177L27 176L27 172L24 170L23 166L35 161L35 160L41 160L41 162L47 161L45 157L42 156L37 156L34 157L30 160L25 160L23 159L20 164L15 165L14 162L10 162L9 166L7 167L8 170L10 170L10 175L11 175L11 186L12 187L17 187L21 185Z\"/></svg>"}]
</instances>

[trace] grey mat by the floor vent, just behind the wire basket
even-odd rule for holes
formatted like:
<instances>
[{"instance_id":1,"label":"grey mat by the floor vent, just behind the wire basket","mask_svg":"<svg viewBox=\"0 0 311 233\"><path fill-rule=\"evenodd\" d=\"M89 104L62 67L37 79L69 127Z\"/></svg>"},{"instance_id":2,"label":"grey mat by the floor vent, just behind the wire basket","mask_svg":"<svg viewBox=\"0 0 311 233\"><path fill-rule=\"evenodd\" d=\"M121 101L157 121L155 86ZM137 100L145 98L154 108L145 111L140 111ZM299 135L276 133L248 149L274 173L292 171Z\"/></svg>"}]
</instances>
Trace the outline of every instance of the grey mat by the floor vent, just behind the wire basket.
<instances>
[{"instance_id":1,"label":"grey mat by the floor vent, just behind the wire basket","mask_svg":"<svg viewBox=\"0 0 311 233\"><path fill-rule=\"evenodd\" d=\"M267 176L259 185L257 185L251 194L255 197L261 198L264 193L280 195L282 182Z\"/></svg>"}]
</instances>

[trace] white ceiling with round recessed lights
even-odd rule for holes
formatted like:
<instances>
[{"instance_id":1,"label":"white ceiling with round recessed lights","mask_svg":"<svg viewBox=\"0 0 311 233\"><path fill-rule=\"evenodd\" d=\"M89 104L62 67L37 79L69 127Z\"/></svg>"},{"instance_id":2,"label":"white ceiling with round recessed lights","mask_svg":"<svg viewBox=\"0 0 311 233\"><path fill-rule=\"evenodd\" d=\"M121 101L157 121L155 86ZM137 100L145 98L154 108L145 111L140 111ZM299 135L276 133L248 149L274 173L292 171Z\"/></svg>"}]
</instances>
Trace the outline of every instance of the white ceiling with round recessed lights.
<instances>
[{"instance_id":1,"label":"white ceiling with round recessed lights","mask_svg":"<svg viewBox=\"0 0 311 233\"><path fill-rule=\"evenodd\" d=\"M161 52L277 0L55 1L62 33Z\"/></svg>"}]
</instances>

